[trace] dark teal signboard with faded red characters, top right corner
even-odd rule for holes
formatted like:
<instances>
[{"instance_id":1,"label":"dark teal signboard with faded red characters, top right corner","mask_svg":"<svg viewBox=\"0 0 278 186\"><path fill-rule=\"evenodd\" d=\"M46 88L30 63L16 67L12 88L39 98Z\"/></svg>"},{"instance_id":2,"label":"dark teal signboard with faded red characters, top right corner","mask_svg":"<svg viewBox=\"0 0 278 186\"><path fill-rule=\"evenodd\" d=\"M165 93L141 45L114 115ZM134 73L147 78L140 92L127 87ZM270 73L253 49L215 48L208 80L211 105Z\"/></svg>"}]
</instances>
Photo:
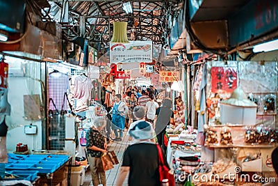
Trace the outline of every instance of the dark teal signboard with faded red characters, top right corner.
<instances>
[{"instance_id":1,"label":"dark teal signboard with faded red characters, top right corner","mask_svg":"<svg viewBox=\"0 0 278 186\"><path fill-rule=\"evenodd\" d=\"M236 46L278 28L278 1L254 0L229 17L229 44Z\"/></svg>"}]
</instances>

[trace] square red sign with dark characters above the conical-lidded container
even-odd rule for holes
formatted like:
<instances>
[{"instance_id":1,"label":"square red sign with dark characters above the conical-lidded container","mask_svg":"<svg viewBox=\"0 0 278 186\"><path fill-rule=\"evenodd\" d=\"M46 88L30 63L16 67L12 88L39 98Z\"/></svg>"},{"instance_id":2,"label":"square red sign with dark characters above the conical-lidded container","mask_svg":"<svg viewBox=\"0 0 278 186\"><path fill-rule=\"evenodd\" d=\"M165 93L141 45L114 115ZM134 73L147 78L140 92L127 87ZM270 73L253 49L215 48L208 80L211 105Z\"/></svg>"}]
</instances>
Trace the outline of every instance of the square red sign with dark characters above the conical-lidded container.
<instances>
[{"instance_id":1,"label":"square red sign with dark characters above the conical-lidded container","mask_svg":"<svg viewBox=\"0 0 278 186\"><path fill-rule=\"evenodd\" d=\"M238 74L236 68L212 67L211 68L211 92L231 93L238 86Z\"/></svg>"}]
</instances>

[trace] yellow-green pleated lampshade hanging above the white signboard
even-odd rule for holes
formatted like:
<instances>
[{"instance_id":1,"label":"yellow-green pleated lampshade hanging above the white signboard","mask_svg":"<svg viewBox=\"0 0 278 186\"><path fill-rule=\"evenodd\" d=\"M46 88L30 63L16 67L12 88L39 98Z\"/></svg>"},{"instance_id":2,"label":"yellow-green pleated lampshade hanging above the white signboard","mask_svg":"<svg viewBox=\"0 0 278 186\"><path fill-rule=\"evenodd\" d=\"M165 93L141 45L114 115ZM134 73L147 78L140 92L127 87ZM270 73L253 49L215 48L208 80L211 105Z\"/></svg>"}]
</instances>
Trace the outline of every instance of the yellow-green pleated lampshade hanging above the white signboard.
<instances>
[{"instance_id":1,"label":"yellow-green pleated lampshade hanging above the white signboard","mask_svg":"<svg viewBox=\"0 0 278 186\"><path fill-rule=\"evenodd\" d=\"M127 22L113 22L113 36L111 42L129 43L126 29Z\"/></svg>"}]
</instances>

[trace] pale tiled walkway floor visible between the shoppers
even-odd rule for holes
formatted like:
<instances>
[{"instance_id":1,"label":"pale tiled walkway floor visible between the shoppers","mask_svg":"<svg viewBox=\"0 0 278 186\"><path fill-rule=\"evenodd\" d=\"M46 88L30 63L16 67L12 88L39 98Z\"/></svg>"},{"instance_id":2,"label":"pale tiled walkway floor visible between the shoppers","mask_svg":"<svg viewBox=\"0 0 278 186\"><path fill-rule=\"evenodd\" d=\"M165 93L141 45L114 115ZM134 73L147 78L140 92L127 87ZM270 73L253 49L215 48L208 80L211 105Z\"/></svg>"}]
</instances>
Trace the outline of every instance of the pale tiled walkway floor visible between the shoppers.
<instances>
[{"instance_id":1,"label":"pale tiled walkway floor visible between the shoppers","mask_svg":"<svg viewBox=\"0 0 278 186\"><path fill-rule=\"evenodd\" d=\"M113 186L117 183L117 174L120 173L120 166L122 165L122 157L124 155L124 150L128 146L127 143L128 136L126 132L124 132L124 137L122 141L111 141L108 144L108 150L114 150L117 155L117 160L119 160L119 164L115 165L113 169L106 171L106 186ZM127 186L128 176L126 176L126 180L124 181L123 186ZM92 186L92 177L90 175L90 169L88 169L85 173L85 180L83 186Z\"/></svg>"}]
</instances>

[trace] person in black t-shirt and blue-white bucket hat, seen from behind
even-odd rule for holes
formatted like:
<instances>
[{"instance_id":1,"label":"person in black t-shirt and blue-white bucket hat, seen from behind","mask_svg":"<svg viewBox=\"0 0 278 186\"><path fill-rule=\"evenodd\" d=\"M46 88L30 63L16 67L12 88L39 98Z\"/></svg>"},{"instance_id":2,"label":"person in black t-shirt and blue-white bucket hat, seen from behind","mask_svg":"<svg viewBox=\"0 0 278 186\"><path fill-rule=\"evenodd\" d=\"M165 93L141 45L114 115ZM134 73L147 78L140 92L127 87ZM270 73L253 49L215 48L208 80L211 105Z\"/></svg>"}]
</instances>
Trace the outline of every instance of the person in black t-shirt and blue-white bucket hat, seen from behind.
<instances>
[{"instance_id":1,"label":"person in black t-shirt and blue-white bucket hat, seen from behind","mask_svg":"<svg viewBox=\"0 0 278 186\"><path fill-rule=\"evenodd\" d=\"M129 135L138 142L128 146L124 152L122 167L117 177L117 186L121 186L129 173L129 185L161 185L158 172L158 147L152 141L154 129L146 121L140 121L129 130ZM164 162L167 165L167 161Z\"/></svg>"}]
</instances>

